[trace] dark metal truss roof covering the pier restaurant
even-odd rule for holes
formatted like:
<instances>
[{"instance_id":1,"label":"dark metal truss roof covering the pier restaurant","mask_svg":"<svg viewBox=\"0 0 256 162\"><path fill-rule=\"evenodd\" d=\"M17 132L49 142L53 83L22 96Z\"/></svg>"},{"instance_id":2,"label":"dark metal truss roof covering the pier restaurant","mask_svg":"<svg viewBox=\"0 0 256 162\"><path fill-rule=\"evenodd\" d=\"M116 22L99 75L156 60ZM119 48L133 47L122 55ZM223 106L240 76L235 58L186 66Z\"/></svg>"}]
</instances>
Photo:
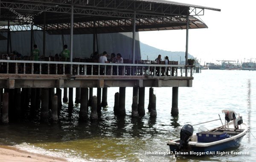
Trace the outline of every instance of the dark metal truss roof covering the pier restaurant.
<instances>
[{"instance_id":1,"label":"dark metal truss roof covering the pier restaurant","mask_svg":"<svg viewBox=\"0 0 256 162\"><path fill-rule=\"evenodd\" d=\"M190 29L207 28L195 16L204 9L220 11L167 0L73 0L73 5L75 34L93 33L94 27L97 33L131 32L134 10L137 31L186 29L188 14ZM29 23L43 29L46 12L47 32L70 32L71 0L1 0L0 8L0 28L9 20L11 30L27 30Z\"/></svg>"}]
</instances>

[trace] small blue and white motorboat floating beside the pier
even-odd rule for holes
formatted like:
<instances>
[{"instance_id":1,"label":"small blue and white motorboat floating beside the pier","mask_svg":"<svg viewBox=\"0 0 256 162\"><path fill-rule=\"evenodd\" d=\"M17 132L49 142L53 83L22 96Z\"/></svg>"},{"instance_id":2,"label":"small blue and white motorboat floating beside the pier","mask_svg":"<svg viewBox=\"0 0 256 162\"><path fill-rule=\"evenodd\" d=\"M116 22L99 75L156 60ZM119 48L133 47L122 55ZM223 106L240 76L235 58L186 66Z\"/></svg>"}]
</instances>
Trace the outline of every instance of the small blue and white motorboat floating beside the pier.
<instances>
[{"instance_id":1,"label":"small blue and white motorboat floating beside the pier","mask_svg":"<svg viewBox=\"0 0 256 162\"><path fill-rule=\"evenodd\" d=\"M238 114L238 117L236 117L234 111L222 110L222 112L225 114L225 124L212 130L198 132L193 135L193 126L185 124L180 130L180 139L167 143L170 147L170 153L202 156L219 154L220 151L239 147L244 135L248 134L249 127L243 123L242 116Z\"/></svg>"}]
</instances>

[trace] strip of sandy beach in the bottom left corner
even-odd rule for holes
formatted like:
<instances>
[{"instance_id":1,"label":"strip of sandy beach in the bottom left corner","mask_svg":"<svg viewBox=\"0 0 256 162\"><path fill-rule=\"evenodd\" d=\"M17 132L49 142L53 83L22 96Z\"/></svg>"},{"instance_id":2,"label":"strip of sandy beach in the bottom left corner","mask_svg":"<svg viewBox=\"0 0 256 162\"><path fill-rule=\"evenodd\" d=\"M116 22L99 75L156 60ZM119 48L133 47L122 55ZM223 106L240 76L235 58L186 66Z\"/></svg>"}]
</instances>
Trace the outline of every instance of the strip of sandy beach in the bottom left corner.
<instances>
[{"instance_id":1,"label":"strip of sandy beach in the bottom left corner","mask_svg":"<svg viewBox=\"0 0 256 162\"><path fill-rule=\"evenodd\" d=\"M66 162L66 160L28 153L11 146L0 146L0 162Z\"/></svg>"}]
</instances>

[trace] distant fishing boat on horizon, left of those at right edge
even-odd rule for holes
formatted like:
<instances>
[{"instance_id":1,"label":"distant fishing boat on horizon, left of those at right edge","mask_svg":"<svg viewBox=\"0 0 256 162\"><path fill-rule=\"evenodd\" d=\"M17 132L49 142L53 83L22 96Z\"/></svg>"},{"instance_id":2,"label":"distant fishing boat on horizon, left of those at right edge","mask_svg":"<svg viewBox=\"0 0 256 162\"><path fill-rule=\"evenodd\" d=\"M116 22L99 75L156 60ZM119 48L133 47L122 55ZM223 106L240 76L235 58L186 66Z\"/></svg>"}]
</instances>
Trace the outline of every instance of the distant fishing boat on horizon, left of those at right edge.
<instances>
[{"instance_id":1,"label":"distant fishing boat on horizon, left of those at right edge","mask_svg":"<svg viewBox=\"0 0 256 162\"><path fill-rule=\"evenodd\" d=\"M239 61L230 60L217 60L221 61L221 64L209 63L209 69L220 69L220 70L241 70L241 64Z\"/></svg>"}]
</instances>

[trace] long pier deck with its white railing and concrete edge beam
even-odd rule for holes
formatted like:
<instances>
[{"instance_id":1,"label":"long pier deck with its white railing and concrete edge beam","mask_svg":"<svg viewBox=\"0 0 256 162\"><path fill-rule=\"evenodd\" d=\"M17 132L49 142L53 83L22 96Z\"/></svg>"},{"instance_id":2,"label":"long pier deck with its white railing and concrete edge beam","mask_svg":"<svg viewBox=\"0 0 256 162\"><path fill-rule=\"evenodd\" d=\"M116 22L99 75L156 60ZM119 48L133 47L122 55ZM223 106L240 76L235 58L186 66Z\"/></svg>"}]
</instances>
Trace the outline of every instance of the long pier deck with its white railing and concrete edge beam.
<instances>
[{"instance_id":1,"label":"long pier deck with its white railing and concrete edge beam","mask_svg":"<svg viewBox=\"0 0 256 162\"><path fill-rule=\"evenodd\" d=\"M34 65L36 64L40 69L37 72L38 74L34 73L36 71ZM61 68L58 68L60 66ZM67 70L63 67L68 66L69 70L66 74ZM121 71L119 67L122 67ZM29 70L26 70L28 68ZM103 75L99 75L100 68L103 68ZM43 87L192 87L193 80L192 70L190 70L189 76L187 72L187 69L192 69L192 67L185 65L0 60L0 69L0 88L10 89ZM119 70L115 72L113 69ZM162 69L160 76L157 76L157 69ZM183 69L186 69L185 74L182 72ZM166 75L166 71L169 71L169 75ZM60 72L61 74L59 74Z\"/></svg>"}]
</instances>

